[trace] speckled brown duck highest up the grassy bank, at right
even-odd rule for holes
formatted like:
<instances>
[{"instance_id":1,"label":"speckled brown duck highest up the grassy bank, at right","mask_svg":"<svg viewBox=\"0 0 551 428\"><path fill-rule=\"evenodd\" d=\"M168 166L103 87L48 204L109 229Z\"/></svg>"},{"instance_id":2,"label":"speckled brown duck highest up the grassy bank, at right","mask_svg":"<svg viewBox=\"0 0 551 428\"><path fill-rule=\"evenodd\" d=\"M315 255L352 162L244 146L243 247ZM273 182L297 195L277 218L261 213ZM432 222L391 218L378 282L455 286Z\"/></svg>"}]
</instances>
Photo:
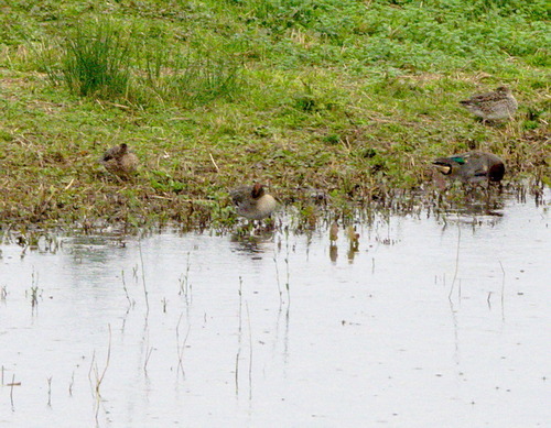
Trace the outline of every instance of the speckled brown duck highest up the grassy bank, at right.
<instances>
[{"instance_id":1,"label":"speckled brown duck highest up the grassy bank, at right","mask_svg":"<svg viewBox=\"0 0 551 428\"><path fill-rule=\"evenodd\" d=\"M460 103L484 121L510 119L518 108L517 100L506 86L491 92L474 95Z\"/></svg>"}]
</instances>

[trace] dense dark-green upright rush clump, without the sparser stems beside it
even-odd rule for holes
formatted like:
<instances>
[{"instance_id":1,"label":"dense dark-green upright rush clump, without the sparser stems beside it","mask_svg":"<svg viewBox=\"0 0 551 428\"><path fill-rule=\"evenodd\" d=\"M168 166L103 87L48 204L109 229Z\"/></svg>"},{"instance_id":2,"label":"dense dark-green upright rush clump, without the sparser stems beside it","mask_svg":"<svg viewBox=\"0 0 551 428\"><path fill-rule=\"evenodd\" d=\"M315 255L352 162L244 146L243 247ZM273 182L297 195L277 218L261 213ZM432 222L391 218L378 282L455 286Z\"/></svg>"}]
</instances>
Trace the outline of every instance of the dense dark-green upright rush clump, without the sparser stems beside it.
<instances>
[{"instance_id":1,"label":"dense dark-green upright rush clump, without the sparser stems beside it","mask_svg":"<svg viewBox=\"0 0 551 428\"><path fill-rule=\"evenodd\" d=\"M127 95L131 46L111 22L77 28L66 39L65 51L62 76L71 91L105 99Z\"/></svg>"}]
</instances>

